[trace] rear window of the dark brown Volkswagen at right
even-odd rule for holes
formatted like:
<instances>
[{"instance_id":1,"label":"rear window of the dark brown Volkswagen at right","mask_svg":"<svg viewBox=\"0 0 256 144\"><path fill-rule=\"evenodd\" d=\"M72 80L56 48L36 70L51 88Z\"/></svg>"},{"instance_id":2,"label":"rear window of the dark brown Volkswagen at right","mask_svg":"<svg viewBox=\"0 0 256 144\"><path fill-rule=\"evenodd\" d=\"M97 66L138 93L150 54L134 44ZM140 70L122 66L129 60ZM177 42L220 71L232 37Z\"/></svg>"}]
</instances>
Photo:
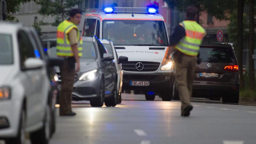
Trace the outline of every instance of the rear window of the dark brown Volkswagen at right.
<instances>
[{"instance_id":1,"label":"rear window of the dark brown Volkswagen at right","mask_svg":"<svg viewBox=\"0 0 256 144\"><path fill-rule=\"evenodd\" d=\"M202 62L235 63L233 50L226 47L200 47Z\"/></svg>"}]
</instances>

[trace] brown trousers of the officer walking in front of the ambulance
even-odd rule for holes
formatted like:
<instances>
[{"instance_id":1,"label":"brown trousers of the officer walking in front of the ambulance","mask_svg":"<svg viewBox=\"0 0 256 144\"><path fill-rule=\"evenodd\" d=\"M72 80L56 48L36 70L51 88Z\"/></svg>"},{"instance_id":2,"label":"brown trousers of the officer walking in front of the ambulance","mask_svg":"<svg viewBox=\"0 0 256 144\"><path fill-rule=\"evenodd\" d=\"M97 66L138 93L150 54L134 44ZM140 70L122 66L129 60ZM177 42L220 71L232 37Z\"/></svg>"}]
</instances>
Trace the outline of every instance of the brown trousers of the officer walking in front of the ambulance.
<instances>
[{"instance_id":1,"label":"brown trousers of the officer walking in front of the ambulance","mask_svg":"<svg viewBox=\"0 0 256 144\"><path fill-rule=\"evenodd\" d=\"M175 86L179 92L181 112L190 104L195 76L197 57L185 54L177 55L175 61Z\"/></svg>"}]
</instances>

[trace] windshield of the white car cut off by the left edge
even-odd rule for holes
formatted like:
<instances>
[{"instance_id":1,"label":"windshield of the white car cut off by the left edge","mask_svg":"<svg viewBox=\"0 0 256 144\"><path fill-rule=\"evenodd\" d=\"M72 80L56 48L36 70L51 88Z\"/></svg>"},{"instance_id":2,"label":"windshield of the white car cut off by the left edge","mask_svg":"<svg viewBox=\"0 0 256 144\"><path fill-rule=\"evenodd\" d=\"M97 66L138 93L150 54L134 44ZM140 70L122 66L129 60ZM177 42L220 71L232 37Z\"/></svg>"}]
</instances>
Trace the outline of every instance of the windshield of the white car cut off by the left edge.
<instances>
[{"instance_id":1,"label":"windshield of the white car cut off by the left edge","mask_svg":"<svg viewBox=\"0 0 256 144\"><path fill-rule=\"evenodd\" d=\"M13 63L12 36L0 34L0 65Z\"/></svg>"}]
</instances>

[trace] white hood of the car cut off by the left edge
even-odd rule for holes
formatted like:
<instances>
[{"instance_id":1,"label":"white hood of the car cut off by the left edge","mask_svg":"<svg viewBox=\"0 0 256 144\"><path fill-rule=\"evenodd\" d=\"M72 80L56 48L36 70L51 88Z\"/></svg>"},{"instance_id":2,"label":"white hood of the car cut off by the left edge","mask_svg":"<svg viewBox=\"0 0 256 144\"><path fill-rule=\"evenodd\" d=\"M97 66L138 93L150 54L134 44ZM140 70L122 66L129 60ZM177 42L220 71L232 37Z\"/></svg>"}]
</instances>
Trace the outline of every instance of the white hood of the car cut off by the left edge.
<instances>
[{"instance_id":1,"label":"white hood of the car cut off by the left edge","mask_svg":"<svg viewBox=\"0 0 256 144\"><path fill-rule=\"evenodd\" d=\"M16 70L13 66L0 66L0 86L8 85L11 79L16 74Z\"/></svg>"}]
</instances>

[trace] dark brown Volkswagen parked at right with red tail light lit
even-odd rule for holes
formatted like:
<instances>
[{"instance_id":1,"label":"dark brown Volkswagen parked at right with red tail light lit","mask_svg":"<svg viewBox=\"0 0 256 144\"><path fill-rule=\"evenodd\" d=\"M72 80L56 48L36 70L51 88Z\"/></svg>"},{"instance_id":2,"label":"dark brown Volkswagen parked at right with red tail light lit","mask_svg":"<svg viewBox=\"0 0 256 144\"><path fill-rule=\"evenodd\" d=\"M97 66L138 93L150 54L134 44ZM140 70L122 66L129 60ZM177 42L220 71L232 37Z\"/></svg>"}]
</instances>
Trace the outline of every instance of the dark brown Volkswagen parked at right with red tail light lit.
<instances>
[{"instance_id":1,"label":"dark brown Volkswagen parked at right with red tail light lit","mask_svg":"<svg viewBox=\"0 0 256 144\"><path fill-rule=\"evenodd\" d=\"M202 62L196 66L193 97L238 103L238 62L232 46L204 43L199 52Z\"/></svg>"}]
</instances>

